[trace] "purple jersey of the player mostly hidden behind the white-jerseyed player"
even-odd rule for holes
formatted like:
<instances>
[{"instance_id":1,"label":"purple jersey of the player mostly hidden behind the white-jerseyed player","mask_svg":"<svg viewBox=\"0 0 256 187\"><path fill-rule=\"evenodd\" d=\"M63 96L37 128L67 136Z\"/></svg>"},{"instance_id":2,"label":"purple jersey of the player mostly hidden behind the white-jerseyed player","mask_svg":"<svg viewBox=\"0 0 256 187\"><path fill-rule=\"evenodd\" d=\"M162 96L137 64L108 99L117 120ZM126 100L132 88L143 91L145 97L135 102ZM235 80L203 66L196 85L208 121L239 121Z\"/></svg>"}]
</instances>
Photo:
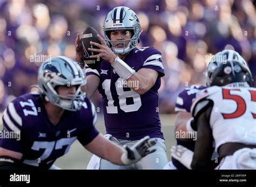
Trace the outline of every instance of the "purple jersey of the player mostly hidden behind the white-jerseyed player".
<instances>
[{"instance_id":1,"label":"purple jersey of the player mostly hidden behind the white-jerseyed player","mask_svg":"<svg viewBox=\"0 0 256 187\"><path fill-rule=\"evenodd\" d=\"M176 101L176 112L190 112L190 108L192 106L194 98L196 98L197 93L200 90L205 89L206 87L192 85L191 87L186 88L185 90L179 93L179 96ZM194 145L196 141L193 139L187 141L181 141L177 139L177 145L182 145L190 150L194 150ZM181 164L178 160L172 157L172 163L177 169L187 169L183 164Z\"/></svg>"}]
</instances>

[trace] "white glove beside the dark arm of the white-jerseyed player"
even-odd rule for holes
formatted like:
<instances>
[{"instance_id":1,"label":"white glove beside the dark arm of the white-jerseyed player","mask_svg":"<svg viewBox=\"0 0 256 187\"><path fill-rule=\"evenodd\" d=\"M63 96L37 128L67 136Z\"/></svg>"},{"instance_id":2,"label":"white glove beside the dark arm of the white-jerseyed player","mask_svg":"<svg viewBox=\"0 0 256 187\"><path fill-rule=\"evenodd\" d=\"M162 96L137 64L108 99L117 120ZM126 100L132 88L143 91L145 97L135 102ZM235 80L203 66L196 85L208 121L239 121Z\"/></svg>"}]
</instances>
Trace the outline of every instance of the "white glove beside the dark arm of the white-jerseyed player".
<instances>
[{"instance_id":1,"label":"white glove beside the dark arm of the white-jerseyed player","mask_svg":"<svg viewBox=\"0 0 256 187\"><path fill-rule=\"evenodd\" d=\"M182 163L186 168L191 169L191 163L193 159L193 152L184 146L177 145L172 146L171 155L174 159Z\"/></svg>"}]
</instances>

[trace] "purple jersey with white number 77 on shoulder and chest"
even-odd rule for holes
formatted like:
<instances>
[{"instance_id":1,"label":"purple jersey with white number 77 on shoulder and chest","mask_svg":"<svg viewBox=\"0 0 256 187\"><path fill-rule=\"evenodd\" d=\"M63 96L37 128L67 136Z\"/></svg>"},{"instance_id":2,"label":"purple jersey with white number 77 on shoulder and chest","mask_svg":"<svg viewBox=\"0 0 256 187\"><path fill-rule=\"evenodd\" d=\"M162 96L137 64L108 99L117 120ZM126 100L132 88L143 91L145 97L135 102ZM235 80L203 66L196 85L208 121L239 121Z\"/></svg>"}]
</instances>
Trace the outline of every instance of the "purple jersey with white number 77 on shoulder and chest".
<instances>
[{"instance_id":1,"label":"purple jersey with white number 77 on shoulder and chest","mask_svg":"<svg viewBox=\"0 0 256 187\"><path fill-rule=\"evenodd\" d=\"M95 107L85 98L81 110L65 110L55 126L39 94L28 93L9 103L3 113L3 131L19 133L20 140L2 138L0 147L22 153L21 161L25 166L48 169L69 151L76 139L85 146L99 134L94 126L96 120Z\"/></svg>"}]
</instances>

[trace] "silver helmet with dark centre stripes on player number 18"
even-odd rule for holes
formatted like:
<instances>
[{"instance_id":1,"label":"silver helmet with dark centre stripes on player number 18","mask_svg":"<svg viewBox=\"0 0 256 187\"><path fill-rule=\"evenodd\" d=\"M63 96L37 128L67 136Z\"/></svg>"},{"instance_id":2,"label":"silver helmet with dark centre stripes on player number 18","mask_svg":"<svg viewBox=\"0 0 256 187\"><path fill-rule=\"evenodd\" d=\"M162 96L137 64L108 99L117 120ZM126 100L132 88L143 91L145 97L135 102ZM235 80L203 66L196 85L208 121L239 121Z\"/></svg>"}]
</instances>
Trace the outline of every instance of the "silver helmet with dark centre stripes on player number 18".
<instances>
[{"instance_id":1,"label":"silver helmet with dark centre stripes on player number 18","mask_svg":"<svg viewBox=\"0 0 256 187\"><path fill-rule=\"evenodd\" d=\"M132 38L127 40L110 40L110 32L114 30L131 30ZM142 33L138 16L126 6L118 6L107 14L103 24L103 31L107 45L112 47L113 52L116 54L125 54L135 48L139 43L139 35ZM129 44L125 47L125 41L129 40ZM123 41L124 47L113 47L112 42L116 41Z\"/></svg>"}]
</instances>

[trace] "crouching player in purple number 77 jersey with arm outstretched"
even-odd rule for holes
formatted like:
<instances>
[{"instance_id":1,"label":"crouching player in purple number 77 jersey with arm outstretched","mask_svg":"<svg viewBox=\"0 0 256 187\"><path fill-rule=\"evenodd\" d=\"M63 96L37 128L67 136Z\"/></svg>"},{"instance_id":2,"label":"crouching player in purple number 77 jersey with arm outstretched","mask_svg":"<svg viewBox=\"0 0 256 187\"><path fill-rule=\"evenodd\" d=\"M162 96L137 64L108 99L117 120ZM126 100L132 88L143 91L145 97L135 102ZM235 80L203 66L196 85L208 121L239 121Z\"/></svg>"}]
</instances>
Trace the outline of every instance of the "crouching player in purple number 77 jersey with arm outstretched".
<instances>
[{"instance_id":1,"label":"crouching player in purple number 77 jersey with arm outstretched","mask_svg":"<svg viewBox=\"0 0 256 187\"><path fill-rule=\"evenodd\" d=\"M17 97L3 113L0 169L49 169L78 141L114 164L131 164L154 150L145 136L132 147L120 147L96 128L95 106L81 91L83 71L68 57L57 56L38 70L39 92ZM8 136L6 136L8 134Z\"/></svg>"}]
</instances>

